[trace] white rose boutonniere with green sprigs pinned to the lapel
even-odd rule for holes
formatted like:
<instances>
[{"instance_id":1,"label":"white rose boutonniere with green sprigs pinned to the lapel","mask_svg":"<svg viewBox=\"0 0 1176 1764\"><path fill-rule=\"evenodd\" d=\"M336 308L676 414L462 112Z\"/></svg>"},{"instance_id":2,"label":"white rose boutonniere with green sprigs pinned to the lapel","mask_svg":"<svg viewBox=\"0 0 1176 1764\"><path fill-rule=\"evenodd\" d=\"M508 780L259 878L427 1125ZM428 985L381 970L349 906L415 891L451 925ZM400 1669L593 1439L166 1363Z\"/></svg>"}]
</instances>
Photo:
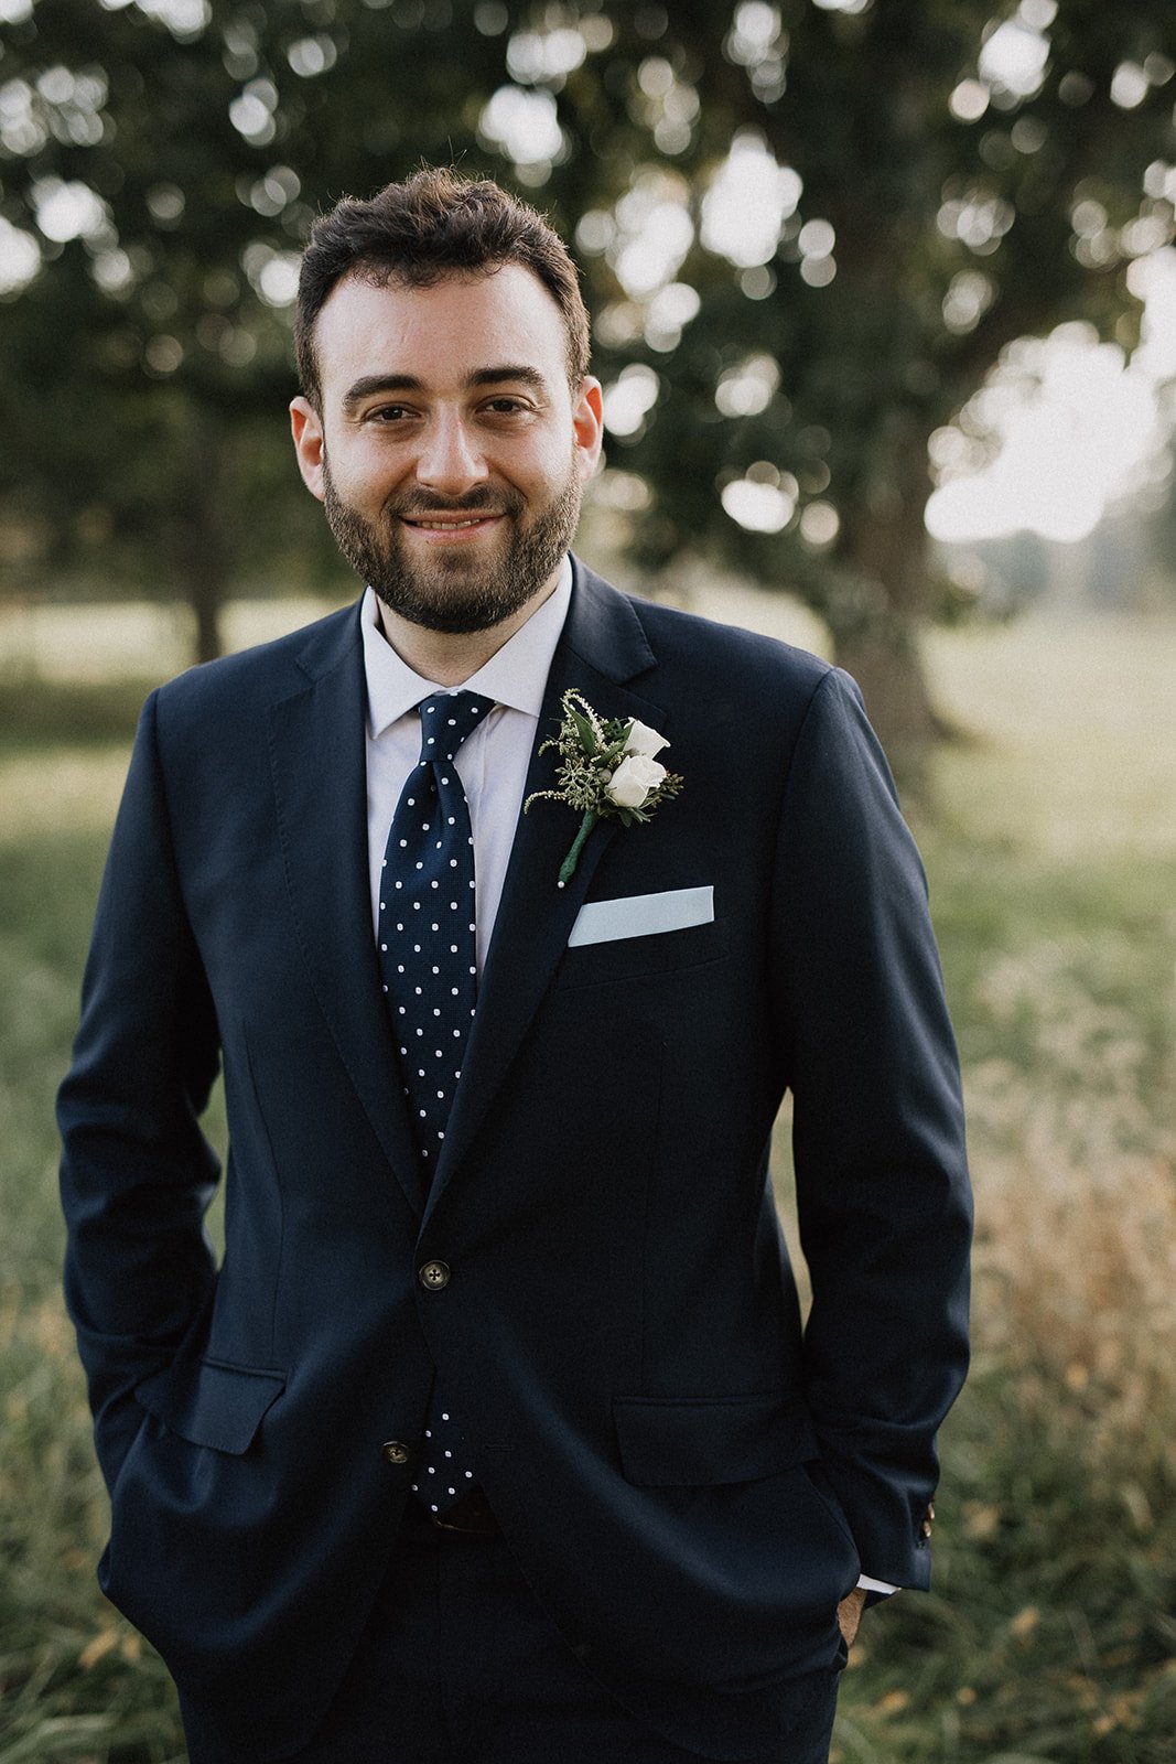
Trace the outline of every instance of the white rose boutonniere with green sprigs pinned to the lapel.
<instances>
[{"instance_id":1,"label":"white rose boutonniere with green sprigs pinned to the lapel","mask_svg":"<svg viewBox=\"0 0 1176 1764\"><path fill-rule=\"evenodd\" d=\"M547 797L566 803L580 815L580 831L559 871L561 887L575 875L584 843L598 820L615 815L624 827L635 820L651 820L652 811L682 789L677 773L666 771L654 757L670 743L649 723L598 716L575 688L564 693L562 706L559 734L540 748L540 753L559 750L559 789L536 790L524 803L524 813Z\"/></svg>"}]
</instances>

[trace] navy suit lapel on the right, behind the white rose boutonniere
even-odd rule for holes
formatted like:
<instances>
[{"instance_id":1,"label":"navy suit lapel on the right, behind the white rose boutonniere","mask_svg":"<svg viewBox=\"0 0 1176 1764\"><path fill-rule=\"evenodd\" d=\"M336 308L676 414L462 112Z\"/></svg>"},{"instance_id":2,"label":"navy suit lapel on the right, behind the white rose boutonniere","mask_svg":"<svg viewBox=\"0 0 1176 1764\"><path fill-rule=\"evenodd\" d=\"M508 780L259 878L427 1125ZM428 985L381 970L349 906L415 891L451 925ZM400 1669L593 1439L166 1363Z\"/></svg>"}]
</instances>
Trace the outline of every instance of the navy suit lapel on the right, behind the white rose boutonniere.
<instances>
[{"instance_id":1,"label":"navy suit lapel on the right, behind the white rose boutonniere","mask_svg":"<svg viewBox=\"0 0 1176 1764\"><path fill-rule=\"evenodd\" d=\"M554 781L555 755L550 751L540 755L538 750L555 732L562 693L575 686L601 716L636 716L656 725L661 707L622 684L654 667L645 632L629 603L577 563L573 602L543 695L525 796L548 789ZM536 803L529 813L518 817L502 901L478 993L478 1014L428 1198L430 1210L469 1150L540 1009L596 866L619 822L598 822L571 882L561 889L559 866L568 856L577 827L577 815L561 803Z\"/></svg>"}]
</instances>

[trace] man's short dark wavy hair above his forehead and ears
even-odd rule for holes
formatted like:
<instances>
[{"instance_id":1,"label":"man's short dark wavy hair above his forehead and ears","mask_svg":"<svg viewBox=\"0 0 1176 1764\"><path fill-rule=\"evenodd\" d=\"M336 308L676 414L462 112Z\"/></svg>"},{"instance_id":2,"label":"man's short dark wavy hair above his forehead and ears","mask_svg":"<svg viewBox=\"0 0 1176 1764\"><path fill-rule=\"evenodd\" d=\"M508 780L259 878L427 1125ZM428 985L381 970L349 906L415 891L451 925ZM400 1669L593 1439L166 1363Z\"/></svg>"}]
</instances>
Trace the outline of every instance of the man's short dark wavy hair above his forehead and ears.
<instances>
[{"instance_id":1,"label":"man's short dark wavy hair above his forehead and ears","mask_svg":"<svg viewBox=\"0 0 1176 1764\"><path fill-rule=\"evenodd\" d=\"M368 201L344 196L310 233L298 277L294 351L303 397L316 411L323 383L314 325L346 275L384 286L430 288L448 275L488 275L504 263L531 270L559 307L568 332L568 377L587 374L589 318L577 266L541 213L490 178L427 168L386 183Z\"/></svg>"}]
</instances>

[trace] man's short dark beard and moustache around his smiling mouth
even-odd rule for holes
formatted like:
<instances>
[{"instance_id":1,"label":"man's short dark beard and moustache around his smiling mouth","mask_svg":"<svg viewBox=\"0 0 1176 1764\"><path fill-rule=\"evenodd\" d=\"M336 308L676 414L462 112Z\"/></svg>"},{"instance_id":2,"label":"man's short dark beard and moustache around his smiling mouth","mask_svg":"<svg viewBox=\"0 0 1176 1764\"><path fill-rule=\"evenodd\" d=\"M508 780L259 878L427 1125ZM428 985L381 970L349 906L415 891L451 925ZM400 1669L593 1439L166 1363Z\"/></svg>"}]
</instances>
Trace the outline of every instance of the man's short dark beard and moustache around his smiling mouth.
<instances>
[{"instance_id":1,"label":"man's short dark beard and moustache around his smiling mouth","mask_svg":"<svg viewBox=\"0 0 1176 1764\"><path fill-rule=\"evenodd\" d=\"M511 489L478 489L458 499L421 490L390 496L379 520L346 503L323 457L323 505L340 552L383 603L430 632L485 632L520 612L559 570L580 519L582 485L575 459L562 485L529 522L525 497ZM458 552L428 561L407 554L400 522L428 513L495 513L510 520L510 542L494 557L473 563Z\"/></svg>"}]
</instances>

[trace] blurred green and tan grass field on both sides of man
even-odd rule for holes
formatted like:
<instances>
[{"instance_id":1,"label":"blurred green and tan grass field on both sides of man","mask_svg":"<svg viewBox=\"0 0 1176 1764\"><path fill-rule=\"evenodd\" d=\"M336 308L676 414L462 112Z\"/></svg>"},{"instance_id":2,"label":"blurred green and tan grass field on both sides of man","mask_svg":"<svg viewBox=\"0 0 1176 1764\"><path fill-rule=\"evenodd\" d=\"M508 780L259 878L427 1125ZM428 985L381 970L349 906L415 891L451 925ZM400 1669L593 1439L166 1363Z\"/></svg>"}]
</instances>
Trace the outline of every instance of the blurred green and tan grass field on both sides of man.
<instances>
[{"instance_id":1,"label":"blurred green and tan grass field on both sides of man","mask_svg":"<svg viewBox=\"0 0 1176 1764\"><path fill-rule=\"evenodd\" d=\"M714 610L806 637L781 602ZM234 637L289 616L247 609ZM90 609L0 640L0 1764L162 1764L167 1678L93 1582L51 1101L129 727L180 635ZM1176 621L936 633L929 660L966 732L919 836L970 1101L977 1365L934 1591L867 1616L836 1755L1172 1764Z\"/></svg>"}]
</instances>

